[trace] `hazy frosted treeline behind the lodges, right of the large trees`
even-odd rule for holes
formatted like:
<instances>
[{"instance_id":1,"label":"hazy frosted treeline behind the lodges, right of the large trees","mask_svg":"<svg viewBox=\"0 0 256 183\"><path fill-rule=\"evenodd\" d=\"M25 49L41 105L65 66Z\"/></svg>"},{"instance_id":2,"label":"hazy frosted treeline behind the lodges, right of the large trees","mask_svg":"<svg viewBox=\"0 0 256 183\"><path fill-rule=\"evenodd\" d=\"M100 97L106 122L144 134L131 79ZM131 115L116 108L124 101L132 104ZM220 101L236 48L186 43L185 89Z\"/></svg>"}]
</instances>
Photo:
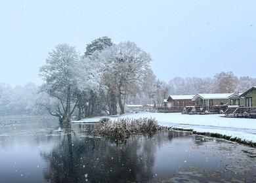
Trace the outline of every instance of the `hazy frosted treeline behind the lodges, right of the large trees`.
<instances>
[{"instance_id":1,"label":"hazy frosted treeline behind the lodges, right of the large trees","mask_svg":"<svg viewBox=\"0 0 256 183\"><path fill-rule=\"evenodd\" d=\"M242 93L256 86L256 78L249 76L236 76L232 72L221 72L215 74L213 78L198 77L175 77L169 82L156 80L153 77L155 86L154 92L151 93L152 103L160 104L163 99L167 99L169 95L186 95L196 93ZM158 87L159 86L159 87ZM140 92L136 97L129 97L127 103L145 104L148 103L148 95Z\"/></svg>"}]
</instances>

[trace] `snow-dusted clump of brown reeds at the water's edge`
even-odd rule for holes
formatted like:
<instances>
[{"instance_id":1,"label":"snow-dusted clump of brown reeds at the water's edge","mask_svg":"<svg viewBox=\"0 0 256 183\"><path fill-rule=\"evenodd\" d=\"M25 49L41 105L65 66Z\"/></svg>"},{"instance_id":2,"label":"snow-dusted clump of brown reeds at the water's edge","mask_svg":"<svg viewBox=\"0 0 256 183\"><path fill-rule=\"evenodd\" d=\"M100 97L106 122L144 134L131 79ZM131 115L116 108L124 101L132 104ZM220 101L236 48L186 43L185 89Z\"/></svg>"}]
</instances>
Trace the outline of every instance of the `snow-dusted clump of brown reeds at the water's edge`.
<instances>
[{"instance_id":1,"label":"snow-dusted clump of brown reeds at the water's edge","mask_svg":"<svg viewBox=\"0 0 256 183\"><path fill-rule=\"evenodd\" d=\"M158 122L154 118L118 118L115 121L103 118L93 129L93 135L127 138L140 133L154 133L158 129Z\"/></svg>"}]
</instances>

